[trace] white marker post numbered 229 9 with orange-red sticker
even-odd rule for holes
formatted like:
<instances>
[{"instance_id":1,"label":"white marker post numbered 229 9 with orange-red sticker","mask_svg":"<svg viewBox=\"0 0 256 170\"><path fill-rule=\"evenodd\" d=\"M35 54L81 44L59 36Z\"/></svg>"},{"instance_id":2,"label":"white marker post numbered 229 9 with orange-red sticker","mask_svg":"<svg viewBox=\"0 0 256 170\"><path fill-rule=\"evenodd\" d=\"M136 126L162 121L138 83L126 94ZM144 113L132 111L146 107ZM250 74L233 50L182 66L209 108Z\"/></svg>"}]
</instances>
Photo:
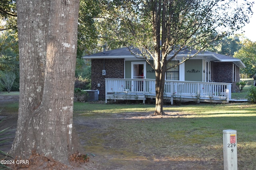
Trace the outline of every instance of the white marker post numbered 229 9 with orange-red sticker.
<instances>
[{"instance_id":1,"label":"white marker post numbered 229 9 with orange-red sticker","mask_svg":"<svg viewBox=\"0 0 256 170\"><path fill-rule=\"evenodd\" d=\"M223 130L224 170L237 170L236 131Z\"/></svg>"}]
</instances>

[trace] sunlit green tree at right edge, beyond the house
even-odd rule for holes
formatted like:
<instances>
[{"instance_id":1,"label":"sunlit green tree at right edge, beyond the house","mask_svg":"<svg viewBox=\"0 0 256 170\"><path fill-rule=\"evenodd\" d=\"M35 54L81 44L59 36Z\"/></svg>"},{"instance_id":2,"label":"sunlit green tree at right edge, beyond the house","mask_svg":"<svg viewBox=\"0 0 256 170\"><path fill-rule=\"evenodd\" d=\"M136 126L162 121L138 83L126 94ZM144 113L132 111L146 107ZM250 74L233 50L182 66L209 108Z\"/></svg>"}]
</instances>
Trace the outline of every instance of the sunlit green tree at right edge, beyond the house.
<instances>
[{"instance_id":1,"label":"sunlit green tree at right edge, beyond the house","mask_svg":"<svg viewBox=\"0 0 256 170\"><path fill-rule=\"evenodd\" d=\"M242 78L249 78L256 74L256 42L245 40L234 57L240 59L246 66L240 70Z\"/></svg>"}]
</instances>

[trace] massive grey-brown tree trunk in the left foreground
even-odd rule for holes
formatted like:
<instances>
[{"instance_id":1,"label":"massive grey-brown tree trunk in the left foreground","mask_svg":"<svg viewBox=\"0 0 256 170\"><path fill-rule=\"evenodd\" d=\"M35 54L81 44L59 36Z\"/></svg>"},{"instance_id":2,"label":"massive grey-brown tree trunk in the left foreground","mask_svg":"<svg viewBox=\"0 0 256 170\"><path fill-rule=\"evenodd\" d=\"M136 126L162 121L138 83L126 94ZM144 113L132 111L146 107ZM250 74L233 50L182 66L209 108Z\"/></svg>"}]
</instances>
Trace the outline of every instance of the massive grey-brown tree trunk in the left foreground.
<instances>
[{"instance_id":1,"label":"massive grey-brown tree trunk in the left foreground","mask_svg":"<svg viewBox=\"0 0 256 170\"><path fill-rule=\"evenodd\" d=\"M18 0L20 104L10 153L32 150L68 164L73 126L79 0Z\"/></svg>"}]
</instances>

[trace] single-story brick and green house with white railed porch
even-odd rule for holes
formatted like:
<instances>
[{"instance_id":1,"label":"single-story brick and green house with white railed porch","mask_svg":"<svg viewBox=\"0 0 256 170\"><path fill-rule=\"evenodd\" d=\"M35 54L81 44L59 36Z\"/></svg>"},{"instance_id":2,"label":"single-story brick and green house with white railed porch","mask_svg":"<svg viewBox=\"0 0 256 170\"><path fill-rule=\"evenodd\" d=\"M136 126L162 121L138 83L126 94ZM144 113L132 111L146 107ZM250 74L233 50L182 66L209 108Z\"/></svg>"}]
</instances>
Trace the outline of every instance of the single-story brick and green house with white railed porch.
<instances>
[{"instance_id":1,"label":"single-story brick and green house with white railed porch","mask_svg":"<svg viewBox=\"0 0 256 170\"><path fill-rule=\"evenodd\" d=\"M181 51L168 64L177 64L196 52ZM144 59L132 55L128 48L104 51L82 58L91 59L92 90L99 90L100 99L107 102L110 99L145 101L146 98L154 98L154 70ZM240 68L245 68L240 59L201 51L166 72L166 97L173 100L177 96L186 96L186 100L194 100L200 96L202 100L216 98L222 102L228 101L231 99L231 91L239 90L236 82L240 80Z\"/></svg>"}]
</instances>

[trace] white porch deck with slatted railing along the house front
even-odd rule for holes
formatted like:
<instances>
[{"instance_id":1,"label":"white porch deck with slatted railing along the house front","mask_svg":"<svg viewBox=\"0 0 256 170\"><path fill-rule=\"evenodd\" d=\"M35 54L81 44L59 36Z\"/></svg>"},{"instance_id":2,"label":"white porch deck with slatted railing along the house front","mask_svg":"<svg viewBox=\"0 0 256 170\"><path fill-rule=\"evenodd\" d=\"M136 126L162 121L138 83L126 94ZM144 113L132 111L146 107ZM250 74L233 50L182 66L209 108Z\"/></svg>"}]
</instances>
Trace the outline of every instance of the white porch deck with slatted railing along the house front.
<instances>
[{"instance_id":1,"label":"white porch deck with slatted railing along the house front","mask_svg":"<svg viewBox=\"0 0 256 170\"><path fill-rule=\"evenodd\" d=\"M106 103L108 100L142 100L156 98L155 80L142 78L106 78ZM228 103L231 99L231 83L192 82L166 80L164 99Z\"/></svg>"}]
</instances>

